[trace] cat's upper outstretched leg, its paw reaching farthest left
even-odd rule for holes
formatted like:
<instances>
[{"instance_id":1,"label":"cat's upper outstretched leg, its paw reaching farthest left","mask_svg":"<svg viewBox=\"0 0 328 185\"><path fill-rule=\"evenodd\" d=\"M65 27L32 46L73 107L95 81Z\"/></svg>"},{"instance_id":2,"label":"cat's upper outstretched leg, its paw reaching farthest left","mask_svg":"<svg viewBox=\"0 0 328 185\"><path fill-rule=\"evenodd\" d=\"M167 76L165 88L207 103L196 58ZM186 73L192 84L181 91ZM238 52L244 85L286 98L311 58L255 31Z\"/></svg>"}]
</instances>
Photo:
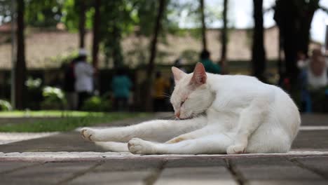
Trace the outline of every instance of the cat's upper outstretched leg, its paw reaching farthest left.
<instances>
[{"instance_id":1,"label":"cat's upper outstretched leg, its paw reaching farthest left","mask_svg":"<svg viewBox=\"0 0 328 185\"><path fill-rule=\"evenodd\" d=\"M82 128L83 139L93 142L128 142L134 137L166 142L186 132L203 128L207 118L199 117L191 120L154 120L127 127L93 129Z\"/></svg>"}]
</instances>

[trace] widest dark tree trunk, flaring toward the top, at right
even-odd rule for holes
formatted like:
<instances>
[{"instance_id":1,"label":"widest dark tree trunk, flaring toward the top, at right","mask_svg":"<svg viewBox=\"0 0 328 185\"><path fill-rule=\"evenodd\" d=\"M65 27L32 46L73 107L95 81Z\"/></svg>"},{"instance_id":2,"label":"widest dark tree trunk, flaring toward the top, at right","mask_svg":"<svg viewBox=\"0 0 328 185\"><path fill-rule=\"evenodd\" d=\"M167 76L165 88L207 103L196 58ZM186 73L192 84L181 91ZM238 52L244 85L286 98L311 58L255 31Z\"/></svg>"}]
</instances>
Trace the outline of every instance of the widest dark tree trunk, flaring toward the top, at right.
<instances>
[{"instance_id":1,"label":"widest dark tree trunk, flaring toward the top, at right","mask_svg":"<svg viewBox=\"0 0 328 185\"><path fill-rule=\"evenodd\" d=\"M280 29L285 53L285 74L280 76L289 78L290 88L294 92L298 88L299 77L299 69L296 66L297 53L302 52L308 55L310 25L313 15L319 7L318 2L317 0L278 0L275 2L274 19Z\"/></svg>"}]
</instances>

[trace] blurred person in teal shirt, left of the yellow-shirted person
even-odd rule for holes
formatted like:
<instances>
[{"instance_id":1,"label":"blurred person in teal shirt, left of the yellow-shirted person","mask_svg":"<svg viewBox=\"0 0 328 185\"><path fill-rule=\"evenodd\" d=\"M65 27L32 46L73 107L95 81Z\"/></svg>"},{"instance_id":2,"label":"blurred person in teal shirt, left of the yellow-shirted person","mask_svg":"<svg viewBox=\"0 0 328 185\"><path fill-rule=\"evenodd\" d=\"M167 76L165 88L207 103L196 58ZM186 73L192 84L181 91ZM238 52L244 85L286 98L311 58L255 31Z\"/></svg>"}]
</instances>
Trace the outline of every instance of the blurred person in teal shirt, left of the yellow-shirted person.
<instances>
[{"instance_id":1,"label":"blurred person in teal shirt, left of the yellow-shirted person","mask_svg":"<svg viewBox=\"0 0 328 185\"><path fill-rule=\"evenodd\" d=\"M114 109L116 109L116 111L128 111L128 100L131 88L132 82L126 74L126 70L123 67L118 68L116 75L111 80L111 89L114 95Z\"/></svg>"}]
</instances>

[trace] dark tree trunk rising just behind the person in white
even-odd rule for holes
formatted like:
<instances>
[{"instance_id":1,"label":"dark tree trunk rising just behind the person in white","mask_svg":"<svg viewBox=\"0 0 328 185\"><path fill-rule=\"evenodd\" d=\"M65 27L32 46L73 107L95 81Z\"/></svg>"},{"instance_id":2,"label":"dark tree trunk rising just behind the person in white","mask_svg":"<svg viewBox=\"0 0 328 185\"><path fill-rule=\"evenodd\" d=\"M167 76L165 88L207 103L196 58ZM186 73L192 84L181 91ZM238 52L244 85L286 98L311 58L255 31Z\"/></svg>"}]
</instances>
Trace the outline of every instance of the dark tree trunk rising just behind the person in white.
<instances>
[{"instance_id":1,"label":"dark tree trunk rising just behind the person in white","mask_svg":"<svg viewBox=\"0 0 328 185\"><path fill-rule=\"evenodd\" d=\"M99 37L100 37L100 0L95 0L95 15L93 15L93 67L98 69Z\"/></svg>"}]
</instances>

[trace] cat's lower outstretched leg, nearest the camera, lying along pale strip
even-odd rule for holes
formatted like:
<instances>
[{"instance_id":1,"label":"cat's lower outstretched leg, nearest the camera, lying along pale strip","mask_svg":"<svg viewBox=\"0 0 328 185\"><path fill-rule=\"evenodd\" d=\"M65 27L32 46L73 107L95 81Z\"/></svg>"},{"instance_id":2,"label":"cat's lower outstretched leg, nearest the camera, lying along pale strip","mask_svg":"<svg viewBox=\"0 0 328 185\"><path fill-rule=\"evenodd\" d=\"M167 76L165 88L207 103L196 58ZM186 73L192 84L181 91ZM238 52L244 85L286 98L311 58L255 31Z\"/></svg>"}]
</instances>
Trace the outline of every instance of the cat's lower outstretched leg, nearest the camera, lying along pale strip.
<instances>
[{"instance_id":1,"label":"cat's lower outstretched leg, nearest the camera, lying along pale strip","mask_svg":"<svg viewBox=\"0 0 328 185\"><path fill-rule=\"evenodd\" d=\"M226 153L226 149L231 144L233 144L233 139L229 135L218 134L173 144L134 138L128 142L128 148L131 153L136 154L220 154Z\"/></svg>"}]
</instances>

